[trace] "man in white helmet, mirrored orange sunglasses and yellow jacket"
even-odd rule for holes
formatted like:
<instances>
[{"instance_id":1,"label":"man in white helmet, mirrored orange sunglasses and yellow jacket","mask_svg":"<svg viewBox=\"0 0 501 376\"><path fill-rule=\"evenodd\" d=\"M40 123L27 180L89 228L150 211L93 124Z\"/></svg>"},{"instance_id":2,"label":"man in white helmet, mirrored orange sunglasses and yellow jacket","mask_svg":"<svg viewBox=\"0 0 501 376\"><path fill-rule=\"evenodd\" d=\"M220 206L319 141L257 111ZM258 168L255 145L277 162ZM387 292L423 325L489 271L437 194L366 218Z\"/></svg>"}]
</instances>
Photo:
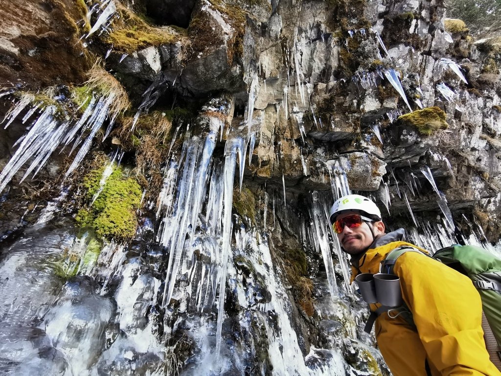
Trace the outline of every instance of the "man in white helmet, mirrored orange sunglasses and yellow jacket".
<instances>
[{"instance_id":1,"label":"man in white helmet, mirrored orange sunglasses and yellow jacket","mask_svg":"<svg viewBox=\"0 0 501 376\"><path fill-rule=\"evenodd\" d=\"M380 210L363 196L337 200L330 221L351 256L352 282L357 274L378 273L397 247L421 250L405 242L403 229L386 234ZM376 320L376 340L394 376L501 375L485 349L481 301L469 278L418 252L401 255L393 272L415 324L391 311Z\"/></svg>"}]
</instances>

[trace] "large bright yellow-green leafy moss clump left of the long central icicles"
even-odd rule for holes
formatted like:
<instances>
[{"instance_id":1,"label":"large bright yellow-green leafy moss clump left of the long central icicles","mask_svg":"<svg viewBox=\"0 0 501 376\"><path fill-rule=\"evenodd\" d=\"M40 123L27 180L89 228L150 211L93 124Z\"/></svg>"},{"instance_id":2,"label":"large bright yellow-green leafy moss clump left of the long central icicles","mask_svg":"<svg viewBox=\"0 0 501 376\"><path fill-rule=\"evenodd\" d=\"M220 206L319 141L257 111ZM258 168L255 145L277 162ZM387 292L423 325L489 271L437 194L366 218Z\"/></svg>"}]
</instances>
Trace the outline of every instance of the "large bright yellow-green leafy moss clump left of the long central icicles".
<instances>
[{"instance_id":1,"label":"large bright yellow-green leafy moss clump left of the long central icicles","mask_svg":"<svg viewBox=\"0 0 501 376\"><path fill-rule=\"evenodd\" d=\"M86 199L94 203L82 208L76 220L81 227L90 226L101 238L128 240L136 232L136 210L141 202L141 188L132 177L125 176L121 167L115 167L101 186L104 168L91 171L84 177Z\"/></svg>"}]
</instances>

